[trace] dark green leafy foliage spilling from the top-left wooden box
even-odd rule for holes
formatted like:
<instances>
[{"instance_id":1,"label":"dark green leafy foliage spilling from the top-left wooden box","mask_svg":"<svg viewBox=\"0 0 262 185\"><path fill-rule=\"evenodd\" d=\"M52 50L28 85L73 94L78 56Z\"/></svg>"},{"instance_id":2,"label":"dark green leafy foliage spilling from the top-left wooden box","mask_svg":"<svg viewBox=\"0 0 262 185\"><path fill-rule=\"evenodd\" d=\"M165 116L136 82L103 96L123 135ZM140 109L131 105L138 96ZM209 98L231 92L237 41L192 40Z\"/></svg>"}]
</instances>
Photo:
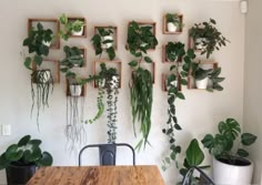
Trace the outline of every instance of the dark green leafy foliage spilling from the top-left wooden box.
<instances>
[{"instance_id":1,"label":"dark green leafy foliage spilling from the top-left wooden box","mask_svg":"<svg viewBox=\"0 0 262 185\"><path fill-rule=\"evenodd\" d=\"M40 22L38 22L37 28L30 29L29 37L23 40L23 45L28 47L29 53L33 53L33 56L27 56L23 62L27 69L32 70L32 62L38 66L42 64L42 56L49 54L49 47L44 42L51 42L52 39L52 30L44 29Z\"/></svg>"}]
</instances>

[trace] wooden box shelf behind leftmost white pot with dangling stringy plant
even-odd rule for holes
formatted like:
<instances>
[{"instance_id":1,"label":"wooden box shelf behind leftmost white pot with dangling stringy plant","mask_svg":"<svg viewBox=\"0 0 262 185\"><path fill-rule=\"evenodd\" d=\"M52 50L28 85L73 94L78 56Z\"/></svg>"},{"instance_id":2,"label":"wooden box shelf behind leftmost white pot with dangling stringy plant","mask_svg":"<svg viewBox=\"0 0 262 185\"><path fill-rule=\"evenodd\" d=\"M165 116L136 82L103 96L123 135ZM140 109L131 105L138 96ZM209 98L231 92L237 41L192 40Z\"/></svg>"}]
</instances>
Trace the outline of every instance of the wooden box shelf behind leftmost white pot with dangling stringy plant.
<instances>
[{"instance_id":1,"label":"wooden box shelf behind leftmost white pot with dangling stringy plant","mask_svg":"<svg viewBox=\"0 0 262 185\"><path fill-rule=\"evenodd\" d=\"M53 68L51 69L50 66L44 68L44 63L49 63L51 65L53 65ZM58 60L52 60L52 59L43 59L42 61L42 65L40 68L38 68L36 65L36 63L32 63L32 71L36 72L37 70L42 70L42 69L50 69L51 70L51 74L53 78L53 83L60 83L60 62Z\"/></svg>"}]
</instances>

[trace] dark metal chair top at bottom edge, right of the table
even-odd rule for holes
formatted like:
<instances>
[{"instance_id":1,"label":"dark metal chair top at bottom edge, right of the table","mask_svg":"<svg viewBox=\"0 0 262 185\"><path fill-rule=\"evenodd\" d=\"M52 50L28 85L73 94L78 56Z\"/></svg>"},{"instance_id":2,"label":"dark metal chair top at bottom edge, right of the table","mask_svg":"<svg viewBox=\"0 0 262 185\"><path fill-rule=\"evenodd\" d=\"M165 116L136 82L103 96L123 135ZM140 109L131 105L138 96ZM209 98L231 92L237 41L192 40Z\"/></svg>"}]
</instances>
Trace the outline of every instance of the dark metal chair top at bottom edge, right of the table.
<instances>
[{"instance_id":1,"label":"dark metal chair top at bottom edge, right of the table","mask_svg":"<svg viewBox=\"0 0 262 185\"><path fill-rule=\"evenodd\" d=\"M182 185L191 185L191 177L194 173L194 169L196 169L200 173L200 185L215 185L214 182L199 167L194 166L191 167L185 176L183 177Z\"/></svg>"}]
</instances>

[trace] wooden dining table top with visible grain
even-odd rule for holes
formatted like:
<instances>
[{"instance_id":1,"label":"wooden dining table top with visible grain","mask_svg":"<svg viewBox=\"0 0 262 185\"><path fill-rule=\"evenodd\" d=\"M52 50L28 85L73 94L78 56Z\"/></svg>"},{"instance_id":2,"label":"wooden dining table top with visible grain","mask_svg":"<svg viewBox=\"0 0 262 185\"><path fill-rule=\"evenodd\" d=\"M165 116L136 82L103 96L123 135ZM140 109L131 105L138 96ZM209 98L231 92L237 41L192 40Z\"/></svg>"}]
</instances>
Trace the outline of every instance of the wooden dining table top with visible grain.
<instances>
[{"instance_id":1,"label":"wooden dining table top with visible grain","mask_svg":"<svg viewBox=\"0 0 262 185\"><path fill-rule=\"evenodd\" d=\"M51 166L40 168L27 185L164 185L164 182L154 165Z\"/></svg>"}]
</instances>

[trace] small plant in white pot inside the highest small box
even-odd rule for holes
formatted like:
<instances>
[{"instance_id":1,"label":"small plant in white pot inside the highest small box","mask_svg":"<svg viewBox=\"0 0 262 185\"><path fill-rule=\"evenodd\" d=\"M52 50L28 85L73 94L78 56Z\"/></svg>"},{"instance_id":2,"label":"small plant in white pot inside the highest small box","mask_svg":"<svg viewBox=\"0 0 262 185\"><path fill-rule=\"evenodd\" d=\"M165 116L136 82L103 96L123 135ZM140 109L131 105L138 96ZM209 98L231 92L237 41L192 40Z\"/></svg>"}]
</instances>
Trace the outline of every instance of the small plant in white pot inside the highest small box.
<instances>
[{"instance_id":1,"label":"small plant in white pot inside the highest small box","mask_svg":"<svg viewBox=\"0 0 262 185\"><path fill-rule=\"evenodd\" d=\"M181 30L181 28L183 27L178 13L167 13L165 20L169 32L177 32L178 30Z\"/></svg>"}]
</instances>

